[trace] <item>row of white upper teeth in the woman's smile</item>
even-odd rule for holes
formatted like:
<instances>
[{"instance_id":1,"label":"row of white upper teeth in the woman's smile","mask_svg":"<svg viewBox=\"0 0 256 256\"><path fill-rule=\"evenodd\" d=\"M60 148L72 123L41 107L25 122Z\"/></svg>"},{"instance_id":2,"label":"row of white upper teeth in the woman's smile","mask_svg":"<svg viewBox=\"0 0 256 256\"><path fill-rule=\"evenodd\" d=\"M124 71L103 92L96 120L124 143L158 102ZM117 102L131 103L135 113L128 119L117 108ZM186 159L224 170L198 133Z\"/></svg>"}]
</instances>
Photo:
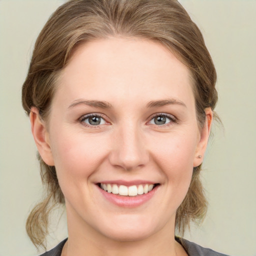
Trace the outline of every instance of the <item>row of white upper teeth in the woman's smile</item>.
<instances>
[{"instance_id":1,"label":"row of white upper teeth in the woman's smile","mask_svg":"<svg viewBox=\"0 0 256 256\"><path fill-rule=\"evenodd\" d=\"M146 194L153 189L153 184L139 184L132 186L118 185L117 184L105 184L100 183L100 188L104 189L108 193L136 196L138 194Z\"/></svg>"}]
</instances>

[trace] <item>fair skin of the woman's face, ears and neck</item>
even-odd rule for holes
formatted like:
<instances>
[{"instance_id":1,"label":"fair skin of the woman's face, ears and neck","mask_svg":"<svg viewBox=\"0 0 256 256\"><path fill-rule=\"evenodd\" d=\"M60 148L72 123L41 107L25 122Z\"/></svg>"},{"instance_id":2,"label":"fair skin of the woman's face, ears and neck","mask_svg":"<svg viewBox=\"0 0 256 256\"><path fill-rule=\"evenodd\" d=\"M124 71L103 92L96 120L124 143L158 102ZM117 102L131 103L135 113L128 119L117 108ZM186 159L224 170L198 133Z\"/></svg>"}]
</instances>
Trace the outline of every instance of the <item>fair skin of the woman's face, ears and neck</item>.
<instances>
[{"instance_id":1,"label":"fair skin of the woman's face, ears and neck","mask_svg":"<svg viewBox=\"0 0 256 256\"><path fill-rule=\"evenodd\" d=\"M158 104L148 107L151 101ZM102 116L99 125L82 119L90 113ZM62 255L186 255L174 240L175 212L203 159L212 120L211 109L205 113L199 128L189 70L163 45L136 38L80 45L60 75L47 122L35 107L30 112L38 151L55 165L65 197ZM169 117L159 125L155 114ZM160 185L127 208L95 185L116 179Z\"/></svg>"}]
</instances>

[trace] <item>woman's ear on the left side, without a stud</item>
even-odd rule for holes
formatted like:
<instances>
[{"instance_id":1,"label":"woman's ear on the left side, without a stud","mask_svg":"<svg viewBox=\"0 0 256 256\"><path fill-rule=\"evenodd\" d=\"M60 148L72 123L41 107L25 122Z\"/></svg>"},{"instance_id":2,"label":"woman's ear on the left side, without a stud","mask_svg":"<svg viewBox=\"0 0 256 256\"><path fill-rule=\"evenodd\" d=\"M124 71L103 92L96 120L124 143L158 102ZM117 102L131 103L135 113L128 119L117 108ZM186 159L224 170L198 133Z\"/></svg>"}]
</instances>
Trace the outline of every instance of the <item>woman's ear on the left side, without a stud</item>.
<instances>
[{"instance_id":1,"label":"woman's ear on the left side, without a stud","mask_svg":"<svg viewBox=\"0 0 256 256\"><path fill-rule=\"evenodd\" d=\"M31 131L40 156L46 164L54 165L49 143L49 133L44 121L40 118L39 111L36 107L31 107L29 118Z\"/></svg>"}]
</instances>

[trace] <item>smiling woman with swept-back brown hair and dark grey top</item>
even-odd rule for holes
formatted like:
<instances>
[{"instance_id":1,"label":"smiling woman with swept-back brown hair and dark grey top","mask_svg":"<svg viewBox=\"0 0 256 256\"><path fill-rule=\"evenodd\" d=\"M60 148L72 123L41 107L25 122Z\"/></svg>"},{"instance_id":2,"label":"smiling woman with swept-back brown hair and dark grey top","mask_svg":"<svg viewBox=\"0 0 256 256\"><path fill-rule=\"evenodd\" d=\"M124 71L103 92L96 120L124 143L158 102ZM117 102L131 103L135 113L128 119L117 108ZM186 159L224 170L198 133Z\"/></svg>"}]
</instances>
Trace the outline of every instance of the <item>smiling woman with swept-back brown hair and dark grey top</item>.
<instances>
[{"instance_id":1,"label":"smiling woman with swept-back brown hair and dark grey top","mask_svg":"<svg viewBox=\"0 0 256 256\"><path fill-rule=\"evenodd\" d=\"M47 195L35 245L65 203L68 239L43 255L223 255L175 236L201 219L216 73L171 0L70 0L35 43L22 103Z\"/></svg>"}]
</instances>

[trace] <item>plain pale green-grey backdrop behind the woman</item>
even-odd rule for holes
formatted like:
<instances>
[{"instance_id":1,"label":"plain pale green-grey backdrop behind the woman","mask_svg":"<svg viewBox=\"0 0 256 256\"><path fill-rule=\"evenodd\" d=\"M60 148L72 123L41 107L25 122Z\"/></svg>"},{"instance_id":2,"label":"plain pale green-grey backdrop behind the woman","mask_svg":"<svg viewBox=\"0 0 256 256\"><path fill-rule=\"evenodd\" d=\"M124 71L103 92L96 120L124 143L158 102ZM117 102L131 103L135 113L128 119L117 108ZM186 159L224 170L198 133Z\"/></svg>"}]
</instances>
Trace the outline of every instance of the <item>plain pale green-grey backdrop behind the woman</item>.
<instances>
[{"instance_id":1,"label":"plain pale green-grey backdrop behind the woman","mask_svg":"<svg viewBox=\"0 0 256 256\"><path fill-rule=\"evenodd\" d=\"M0 0L0 256L38 254L24 226L42 186L20 94L36 36L62 2ZM203 163L207 216L185 237L229 255L256 255L256 1L181 3L215 63L224 126L213 126ZM60 213L53 214L48 249L67 235Z\"/></svg>"}]
</instances>

